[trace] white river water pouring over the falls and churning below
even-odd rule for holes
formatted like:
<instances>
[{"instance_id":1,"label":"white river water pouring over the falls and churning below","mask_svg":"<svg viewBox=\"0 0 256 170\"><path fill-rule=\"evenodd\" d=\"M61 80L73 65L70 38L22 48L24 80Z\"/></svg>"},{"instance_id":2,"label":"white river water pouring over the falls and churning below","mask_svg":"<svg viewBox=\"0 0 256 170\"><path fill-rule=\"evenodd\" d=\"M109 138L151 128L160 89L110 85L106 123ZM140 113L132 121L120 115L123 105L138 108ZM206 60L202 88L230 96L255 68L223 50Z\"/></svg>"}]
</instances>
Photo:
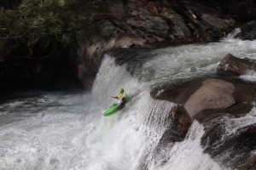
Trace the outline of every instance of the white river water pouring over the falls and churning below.
<instances>
[{"instance_id":1,"label":"white river water pouring over the falls and churning below","mask_svg":"<svg viewBox=\"0 0 256 170\"><path fill-rule=\"evenodd\" d=\"M156 152L177 105L152 99L149 92L167 82L212 75L228 53L255 58L255 49L256 41L229 37L204 45L138 50L139 57L128 50L105 56L91 93L26 92L1 99L0 169L230 169L222 164L225 156L204 153L205 127L196 121L183 141ZM125 88L129 102L103 117L119 88ZM253 108L241 118L223 117L229 125L223 138L236 133L234 126L255 123L255 113Z\"/></svg>"}]
</instances>

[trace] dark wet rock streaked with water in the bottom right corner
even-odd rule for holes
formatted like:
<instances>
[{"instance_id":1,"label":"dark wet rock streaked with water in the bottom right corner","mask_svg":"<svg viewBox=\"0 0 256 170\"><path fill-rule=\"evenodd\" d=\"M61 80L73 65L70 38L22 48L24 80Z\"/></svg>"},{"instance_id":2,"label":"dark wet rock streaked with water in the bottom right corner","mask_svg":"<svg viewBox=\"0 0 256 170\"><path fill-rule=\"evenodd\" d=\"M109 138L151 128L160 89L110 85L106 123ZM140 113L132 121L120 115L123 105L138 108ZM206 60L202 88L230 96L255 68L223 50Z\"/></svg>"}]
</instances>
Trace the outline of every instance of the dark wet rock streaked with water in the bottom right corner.
<instances>
[{"instance_id":1,"label":"dark wet rock streaked with water in the bottom right corner","mask_svg":"<svg viewBox=\"0 0 256 170\"><path fill-rule=\"evenodd\" d=\"M233 118L227 115L204 124L206 133L201 138L201 145L226 167L250 169L255 166L256 132L245 132L245 127L233 124Z\"/></svg>"}]
</instances>

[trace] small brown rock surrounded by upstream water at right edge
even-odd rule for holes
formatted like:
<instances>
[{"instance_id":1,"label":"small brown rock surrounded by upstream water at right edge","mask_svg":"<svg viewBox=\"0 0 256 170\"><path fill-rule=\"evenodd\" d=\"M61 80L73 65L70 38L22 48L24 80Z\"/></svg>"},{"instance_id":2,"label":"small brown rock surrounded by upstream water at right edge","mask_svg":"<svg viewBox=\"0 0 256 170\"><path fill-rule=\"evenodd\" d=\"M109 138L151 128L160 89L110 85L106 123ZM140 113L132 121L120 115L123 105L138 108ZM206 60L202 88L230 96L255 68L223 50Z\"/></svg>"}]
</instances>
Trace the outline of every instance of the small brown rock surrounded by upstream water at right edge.
<instances>
[{"instance_id":1,"label":"small brown rock surrounded by upstream water at right edge","mask_svg":"<svg viewBox=\"0 0 256 170\"><path fill-rule=\"evenodd\" d=\"M224 59L221 60L217 70L231 72L236 75L245 75L247 71L256 71L256 60L239 59L232 54L227 54Z\"/></svg>"}]
</instances>

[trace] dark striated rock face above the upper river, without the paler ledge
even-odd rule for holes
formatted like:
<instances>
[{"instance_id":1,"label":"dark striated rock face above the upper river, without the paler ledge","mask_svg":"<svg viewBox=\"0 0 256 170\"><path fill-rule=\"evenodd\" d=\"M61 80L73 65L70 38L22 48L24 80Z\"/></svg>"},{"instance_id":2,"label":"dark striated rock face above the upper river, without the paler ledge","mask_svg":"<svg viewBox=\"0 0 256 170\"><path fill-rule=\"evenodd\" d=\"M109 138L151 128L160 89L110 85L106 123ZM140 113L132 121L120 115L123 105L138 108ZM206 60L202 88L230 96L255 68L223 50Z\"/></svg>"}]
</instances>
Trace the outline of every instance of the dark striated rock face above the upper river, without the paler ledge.
<instances>
[{"instance_id":1,"label":"dark striated rock face above the upper river, without the paler ledge","mask_svg":"<svg viewBox=\"0 0 256 170\"><path fill-rule=\"evenodd\" d=\"M131 33L149 44L214 41L235 24L235 20L214 8L187 1L129 1L127 15L125 20Z\"/></svg>"}]
</instances>

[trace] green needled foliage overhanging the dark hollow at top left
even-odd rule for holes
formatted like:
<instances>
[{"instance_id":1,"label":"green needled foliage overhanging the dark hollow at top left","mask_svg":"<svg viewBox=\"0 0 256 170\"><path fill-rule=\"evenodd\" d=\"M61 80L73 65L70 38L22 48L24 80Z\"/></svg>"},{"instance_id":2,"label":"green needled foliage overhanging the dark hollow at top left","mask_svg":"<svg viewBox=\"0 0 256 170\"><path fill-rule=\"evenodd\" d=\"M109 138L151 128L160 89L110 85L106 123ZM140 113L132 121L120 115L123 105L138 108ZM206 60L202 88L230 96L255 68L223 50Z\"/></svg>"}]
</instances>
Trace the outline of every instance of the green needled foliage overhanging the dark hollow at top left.
<instances>
[{"instance_id":1,"label":"green needled foliage overhanging the dark hollow at top left","mask_svg":"<svg viewBox=\"0 0 256 170\"><path fill-rule=\"evenodd\" d=\"M109 2L113 3L103 0L24 0L18 8L1 8L0 62L8 58L47 57L56 48L90 41L93 35L100 33L91 22L99 13L108 12ZM44 55L36 56L38 54Z\"/></svg>"}]
</instances>

